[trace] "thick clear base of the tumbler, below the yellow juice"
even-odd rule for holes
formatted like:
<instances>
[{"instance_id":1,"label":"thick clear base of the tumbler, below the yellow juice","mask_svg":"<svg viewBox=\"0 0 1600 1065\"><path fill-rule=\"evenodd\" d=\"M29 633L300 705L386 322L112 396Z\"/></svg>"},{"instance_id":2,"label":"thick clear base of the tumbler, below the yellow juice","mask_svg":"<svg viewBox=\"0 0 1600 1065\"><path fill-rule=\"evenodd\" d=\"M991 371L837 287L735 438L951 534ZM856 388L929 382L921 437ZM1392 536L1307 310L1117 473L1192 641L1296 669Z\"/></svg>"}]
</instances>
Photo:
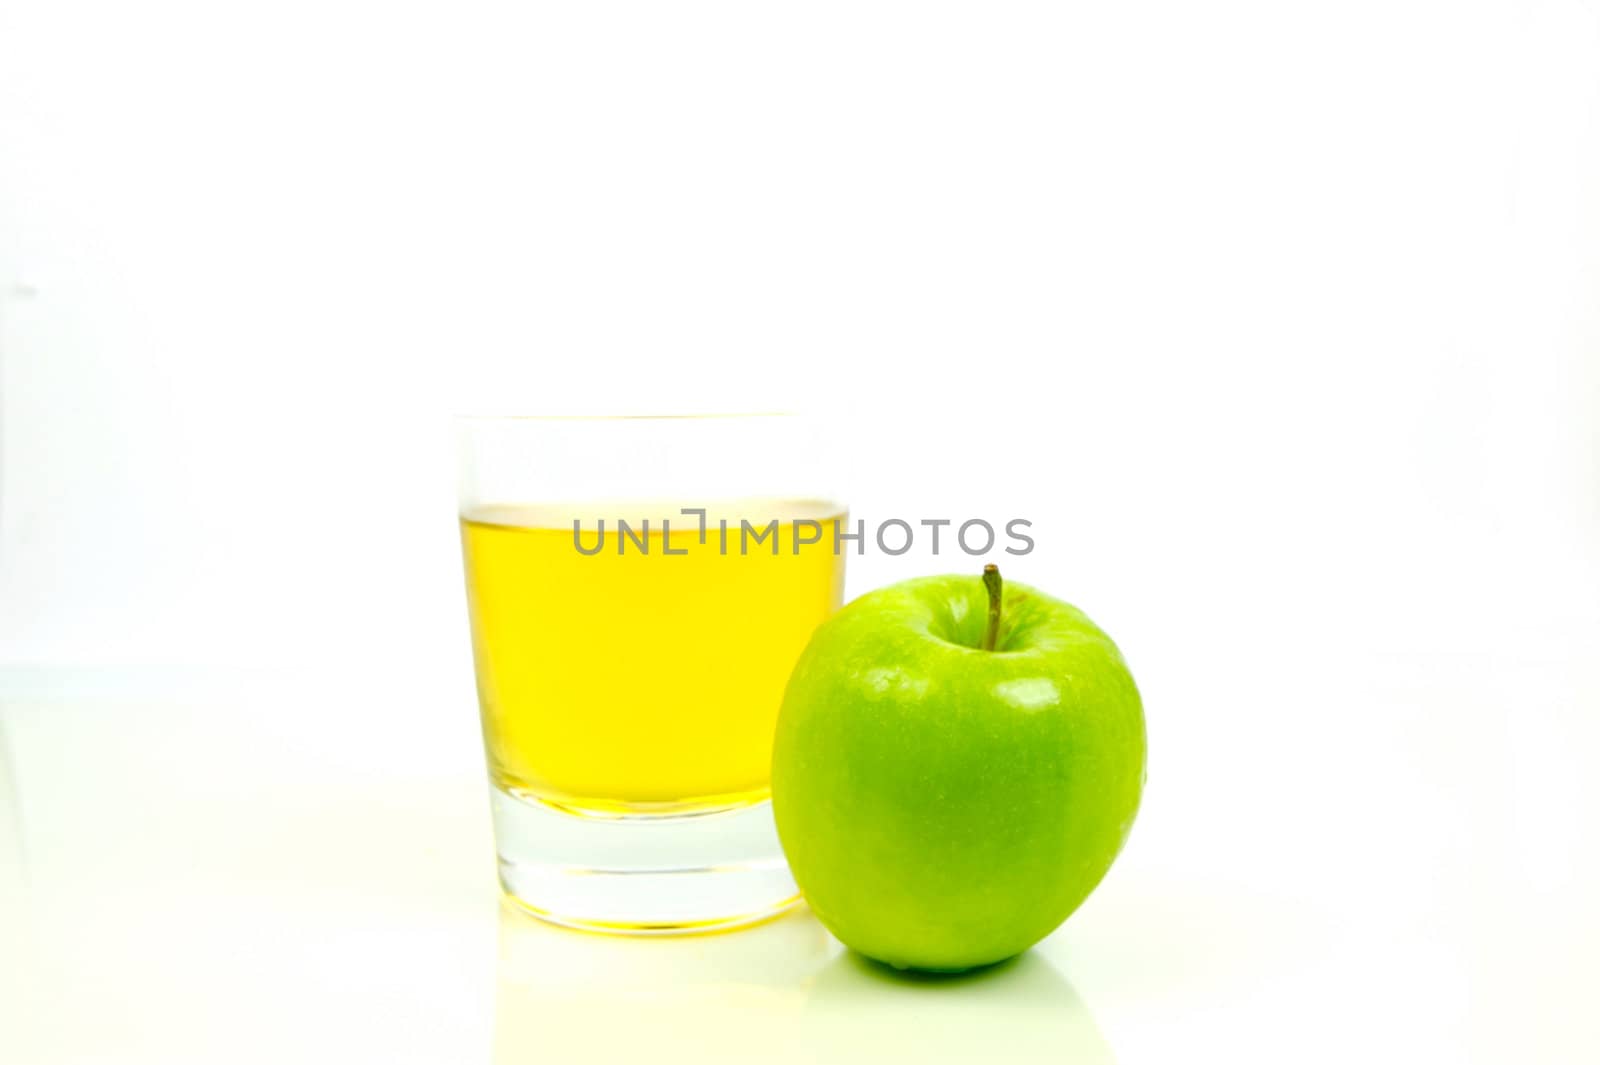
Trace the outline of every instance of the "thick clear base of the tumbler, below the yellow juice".
<instances>
[{"instance_id":1,"label":"thick clear base of the tumbler, below the yellow juice","mask_svg":"<svg viewBox=\"0 0 1600 1065\"><path fill-rule=\"evenodd\" d=\"M528 913L589 932L683 935L765 921L800 900L771 801L600 816L490 792L501 886Z\"/></svg>"}]
</instances>

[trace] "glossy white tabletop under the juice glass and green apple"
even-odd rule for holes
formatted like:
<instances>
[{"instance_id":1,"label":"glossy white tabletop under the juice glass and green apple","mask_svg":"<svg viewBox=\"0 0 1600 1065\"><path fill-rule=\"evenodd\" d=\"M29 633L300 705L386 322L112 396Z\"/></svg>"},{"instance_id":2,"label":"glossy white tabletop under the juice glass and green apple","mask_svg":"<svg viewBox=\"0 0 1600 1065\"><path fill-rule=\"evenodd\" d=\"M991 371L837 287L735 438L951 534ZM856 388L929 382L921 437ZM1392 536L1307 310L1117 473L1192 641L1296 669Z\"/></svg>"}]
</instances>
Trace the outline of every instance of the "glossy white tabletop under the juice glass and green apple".
<instances>
[{"instance_id":1,"label":"glossy white tabletop under the juice glass and green apple","mask_svg":"<svg viewBox=\"0 0 1600 1065\"><path fill-rule=\"evenodd\" d=\"M1147 670L1122 862L1037 950L965 979L861 961L805 911L677 940L510 911L470 704L13 673L0 1057L1584 1060L1581 651L1373 657L1320 684L1262 667L1232 700L1198 662Z\"/></svg>"}]
</instances>

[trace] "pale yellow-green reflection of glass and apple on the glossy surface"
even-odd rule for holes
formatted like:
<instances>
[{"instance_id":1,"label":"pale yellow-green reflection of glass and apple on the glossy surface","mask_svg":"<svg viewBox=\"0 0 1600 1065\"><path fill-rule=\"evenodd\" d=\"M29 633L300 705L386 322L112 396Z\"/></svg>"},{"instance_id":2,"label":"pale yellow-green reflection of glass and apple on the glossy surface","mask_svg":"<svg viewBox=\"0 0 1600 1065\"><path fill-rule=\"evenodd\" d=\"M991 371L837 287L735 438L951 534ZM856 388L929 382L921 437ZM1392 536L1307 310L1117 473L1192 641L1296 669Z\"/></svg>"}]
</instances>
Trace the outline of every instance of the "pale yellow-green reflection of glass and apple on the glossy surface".
<instances>
[{"instance_id":1,"label":"pale yellow-green reflection of glass and apple on the glossy surface","mask_svg":"<svg viewBox=\"0 0 1600 1065\"><path fill-rule=\"evenodd\" d=\"M899 974L805 910L686 939L550 927L502 903L494 1065L534 1062L1074 1062L1110 1047L1042 956Z\"/></svg>"}]
</instances>

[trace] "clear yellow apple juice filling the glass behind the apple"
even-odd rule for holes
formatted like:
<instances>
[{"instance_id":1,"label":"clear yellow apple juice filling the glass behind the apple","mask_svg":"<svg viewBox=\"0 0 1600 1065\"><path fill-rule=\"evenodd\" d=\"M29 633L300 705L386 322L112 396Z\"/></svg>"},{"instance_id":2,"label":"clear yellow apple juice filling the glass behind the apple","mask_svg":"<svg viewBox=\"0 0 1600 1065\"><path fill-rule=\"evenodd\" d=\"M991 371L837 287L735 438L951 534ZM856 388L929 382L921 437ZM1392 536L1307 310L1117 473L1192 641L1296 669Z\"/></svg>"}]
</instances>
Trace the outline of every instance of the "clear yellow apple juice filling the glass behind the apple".
<instances>
[{"instance_id":1,"label":"clear yellow apple juice filling the glass behind the apple","mask_svg":"<svg viewBox=\"0 0 1600 1065\"><path fill-rule=\"evenodd\" d=\"M677 505L462 513L494 784L594 811L763 798L789 672L843 593L842 520L821 502L712 507L702 542Z\"/></svg>"}]
</instances>

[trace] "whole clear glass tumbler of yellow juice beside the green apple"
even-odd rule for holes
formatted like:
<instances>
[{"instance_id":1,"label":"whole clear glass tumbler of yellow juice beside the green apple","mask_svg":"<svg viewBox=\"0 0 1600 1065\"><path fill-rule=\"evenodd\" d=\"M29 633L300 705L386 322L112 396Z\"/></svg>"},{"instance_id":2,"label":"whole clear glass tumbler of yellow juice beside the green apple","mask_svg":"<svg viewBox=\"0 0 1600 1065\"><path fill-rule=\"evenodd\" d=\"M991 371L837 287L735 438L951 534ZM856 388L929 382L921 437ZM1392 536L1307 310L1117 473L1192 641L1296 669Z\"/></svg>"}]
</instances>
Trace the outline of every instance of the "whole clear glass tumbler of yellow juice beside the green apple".
<instances>
[{"instance_id":1,"label":"whole clear glass tumbler of yellow juice beside the green apple","mask_svg":"<svg viewBox=\"0 0 1600 1065\"><path fill-rule=\"evenodd\" d=\"M838 609L845 505L784 414L462 417L461 548L501 886L698 932L797 900L773 728Z\"/></svg>"}]
</instances>

